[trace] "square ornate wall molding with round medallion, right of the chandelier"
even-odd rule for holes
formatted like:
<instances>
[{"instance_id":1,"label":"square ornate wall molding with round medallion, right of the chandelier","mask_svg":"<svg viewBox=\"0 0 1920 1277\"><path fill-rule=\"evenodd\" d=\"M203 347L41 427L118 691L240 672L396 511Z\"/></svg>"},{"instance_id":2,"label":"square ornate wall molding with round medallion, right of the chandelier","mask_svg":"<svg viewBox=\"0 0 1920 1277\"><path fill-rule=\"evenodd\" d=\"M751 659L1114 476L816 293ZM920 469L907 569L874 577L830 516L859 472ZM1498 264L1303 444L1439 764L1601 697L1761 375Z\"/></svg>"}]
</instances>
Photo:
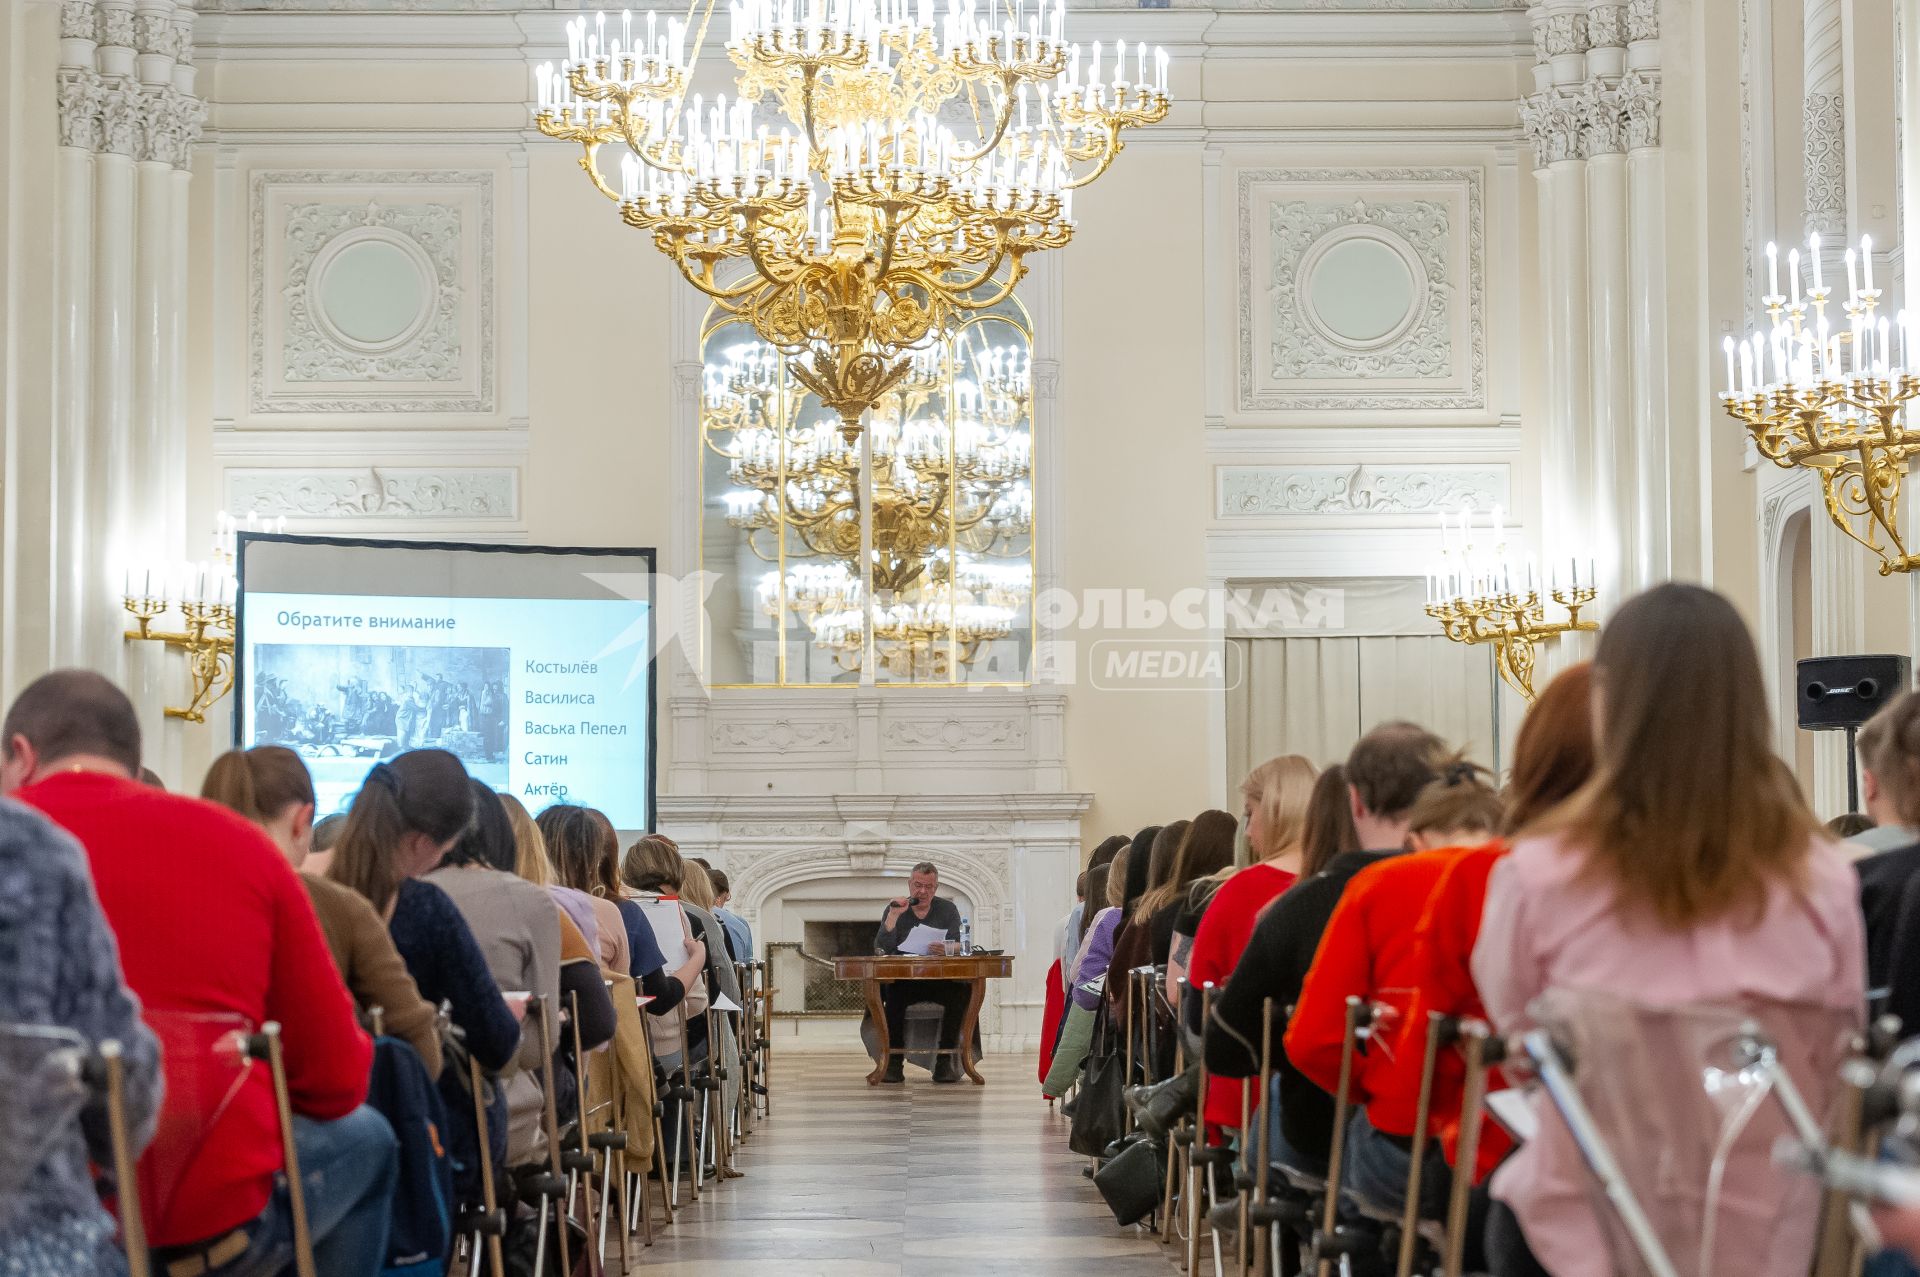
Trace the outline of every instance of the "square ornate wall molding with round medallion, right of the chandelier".
<instances>
[{"instance_id":1,"label":"square ornate wall molding with round medallion, right of the chandelier","mask_svg":"<svg viewBox=\"0 0 1920 1277\"><path fill-rule=\"evenodd\" d=\"M1236 407L1484 411L1482 184L1465 167L1242 169Z\"/></svg>"}]
</instances>

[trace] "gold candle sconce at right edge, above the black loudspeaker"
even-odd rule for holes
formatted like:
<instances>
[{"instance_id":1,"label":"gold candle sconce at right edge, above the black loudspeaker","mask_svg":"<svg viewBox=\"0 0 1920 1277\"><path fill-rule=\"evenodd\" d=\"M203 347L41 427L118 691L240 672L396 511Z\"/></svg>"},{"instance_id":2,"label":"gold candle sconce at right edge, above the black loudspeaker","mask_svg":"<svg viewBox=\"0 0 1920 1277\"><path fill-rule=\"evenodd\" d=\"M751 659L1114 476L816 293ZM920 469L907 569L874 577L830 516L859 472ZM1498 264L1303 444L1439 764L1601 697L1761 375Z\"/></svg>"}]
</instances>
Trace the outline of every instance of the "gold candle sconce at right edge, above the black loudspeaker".
<instances>
[{"instance_id":1,"label":"gold candle sconce at right edge, above the black loudspeaker","mask_svg":"<svg viewBox=\"0 0 1920 1277\"><path fill-rule=\"evenodd\" d=\"M1720 403L1747 426L1763 457L1784 469L1812 470L1834 524L1880 557L1880 574L1910 572L1920 555L1901 536L1901 486L1920 453L1920 426L1908 403L1920 376L1908 363L1910 317L1893 323L1874 288L1874 242L1847 250L1847 298L1837 301L1820 261L1820 236L1807 244L1812 286L1801 292L1801 253L1788 253L1780 292L1780 250L1766 246L1770 321L1747 340L1724 340L1726 392ZM1862 282L1864 267L1864 282ZM1834 305L1839 313L1828 315ZM1839 323L1836 323L1839 321Z\"/></svg>"}]
</instances>

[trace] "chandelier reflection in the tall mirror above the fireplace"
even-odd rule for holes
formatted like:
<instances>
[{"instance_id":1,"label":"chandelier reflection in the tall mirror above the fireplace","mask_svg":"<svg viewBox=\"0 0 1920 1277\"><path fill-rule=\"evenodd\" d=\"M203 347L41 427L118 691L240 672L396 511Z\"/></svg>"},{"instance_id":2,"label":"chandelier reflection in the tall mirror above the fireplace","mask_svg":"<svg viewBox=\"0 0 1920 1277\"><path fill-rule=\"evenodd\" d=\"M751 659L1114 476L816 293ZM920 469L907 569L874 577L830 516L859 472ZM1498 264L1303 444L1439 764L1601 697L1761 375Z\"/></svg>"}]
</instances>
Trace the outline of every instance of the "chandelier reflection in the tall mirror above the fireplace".
<instances>
[{"instance_id":1,"label":"chandelier reflection in the tall mirror above the fireplace","mask_svg":"<svg viewBox=\"0 0 1920 1277\"><path fill-rule=\"evenodd\" d=\"M726 520L780 565L758 584L760 611L801 620L843 670L866 663L860 492L872 494L877 668L950 678L1008 638L1031 599L1031 563L991 557L1033 530L1031 359L968 336L916 351L876 405L866 486L860 449L829 421L801 421L812 399L778 351L741 342L708 363L701 426L733 484Z\"/></svg>"}]
</instances>

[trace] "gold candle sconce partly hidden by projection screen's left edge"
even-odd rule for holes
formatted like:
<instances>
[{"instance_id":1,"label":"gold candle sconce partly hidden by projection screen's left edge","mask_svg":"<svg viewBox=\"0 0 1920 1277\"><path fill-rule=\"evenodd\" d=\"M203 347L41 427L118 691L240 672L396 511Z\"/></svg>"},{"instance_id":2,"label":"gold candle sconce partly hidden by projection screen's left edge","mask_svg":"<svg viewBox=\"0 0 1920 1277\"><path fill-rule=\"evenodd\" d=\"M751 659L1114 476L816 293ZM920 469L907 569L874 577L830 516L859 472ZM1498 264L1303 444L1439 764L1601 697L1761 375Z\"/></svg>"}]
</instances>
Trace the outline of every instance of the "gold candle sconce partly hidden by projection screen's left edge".
<instances>
[{"instance_id":1,"label":"gold candle sconce partly hidden by projection screen's left edge","mask_svg":"<svg viewBox=\"0 0 1920 1277\"><path fill-rule=\"evenodd\" d=\"M286 520L263 520L248 515L246 522L225 511L213 520L213 557L200 563L127 568L121 584L121 607L134 618L125 632L129 641L165 643L186 655L186 674L192 695L186 705L169 705L167 718L205 722L207 711L234 686L234 609L240 603L240 582L234 576L234 557L240 532L286 532ZM156 628L154 622L179 613L177 628Z\"/></svg>"}]
</instances>

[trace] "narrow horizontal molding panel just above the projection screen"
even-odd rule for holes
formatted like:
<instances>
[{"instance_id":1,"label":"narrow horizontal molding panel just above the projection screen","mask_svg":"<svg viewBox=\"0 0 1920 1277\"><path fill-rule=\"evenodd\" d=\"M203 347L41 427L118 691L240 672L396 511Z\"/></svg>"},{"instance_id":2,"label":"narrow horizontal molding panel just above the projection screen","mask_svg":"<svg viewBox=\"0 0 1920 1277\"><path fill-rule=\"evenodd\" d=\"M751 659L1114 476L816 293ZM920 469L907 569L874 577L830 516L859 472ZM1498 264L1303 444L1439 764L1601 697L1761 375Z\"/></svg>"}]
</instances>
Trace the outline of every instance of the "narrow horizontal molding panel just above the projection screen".
<instances>
[{"instance_id":1,"label":"narrow horizontal molding panel just above the projection screen","mask_svg":"<svg viewBox=\"0 0 1920 1277\"><path fill-rule=\"evenodd\" d=\"M513 467L342 467L227 470L234 515L292 520L518 520Z\"/></svg>"}]
</instances>

